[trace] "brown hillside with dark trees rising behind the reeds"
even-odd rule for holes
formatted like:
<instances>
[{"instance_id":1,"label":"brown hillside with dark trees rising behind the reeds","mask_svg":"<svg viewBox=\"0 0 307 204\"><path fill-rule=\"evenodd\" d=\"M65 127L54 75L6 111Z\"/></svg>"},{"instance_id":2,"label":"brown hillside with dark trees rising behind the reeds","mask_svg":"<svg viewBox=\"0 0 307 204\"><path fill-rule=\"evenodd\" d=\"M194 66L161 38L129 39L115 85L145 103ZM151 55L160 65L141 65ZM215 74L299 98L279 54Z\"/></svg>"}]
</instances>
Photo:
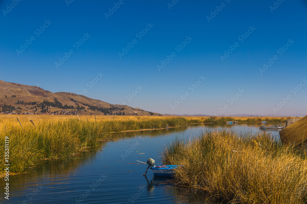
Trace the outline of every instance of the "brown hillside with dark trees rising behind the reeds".
<instances>
[{"instance_id":1,"label":"brown hillside with dark trees rising behind the reeds","mask_svg":"<svg viewBox=\"0 0 307 204\"><path fill-rule=\"evenodd\" d=\"M52 93L37 86L2 80L0 80L0 106L2 113L161 115L126 105L113 105L84 95L69 92Z\"/></svg>"}]
</instances>

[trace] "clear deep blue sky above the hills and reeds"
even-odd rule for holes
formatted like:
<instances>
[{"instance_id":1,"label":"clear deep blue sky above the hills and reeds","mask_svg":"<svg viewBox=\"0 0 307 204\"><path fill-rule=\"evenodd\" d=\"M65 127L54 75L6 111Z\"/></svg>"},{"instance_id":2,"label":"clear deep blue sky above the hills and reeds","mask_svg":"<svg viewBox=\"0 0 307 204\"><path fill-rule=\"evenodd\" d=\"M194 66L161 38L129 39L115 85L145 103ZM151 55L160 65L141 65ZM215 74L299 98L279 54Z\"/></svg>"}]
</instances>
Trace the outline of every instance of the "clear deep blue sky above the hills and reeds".
<instances>
[{"instance_id":1,"label":"clear deep blue sky above the hills and reeds","mask_svg":"<svg viewBox=\"0 0 307 204\"><path fill-rule=\"evenodd\" d=\"M307 1L10 0L0 9L1 80L163 114L307 114Z\"/></svg>"}]
</instances>

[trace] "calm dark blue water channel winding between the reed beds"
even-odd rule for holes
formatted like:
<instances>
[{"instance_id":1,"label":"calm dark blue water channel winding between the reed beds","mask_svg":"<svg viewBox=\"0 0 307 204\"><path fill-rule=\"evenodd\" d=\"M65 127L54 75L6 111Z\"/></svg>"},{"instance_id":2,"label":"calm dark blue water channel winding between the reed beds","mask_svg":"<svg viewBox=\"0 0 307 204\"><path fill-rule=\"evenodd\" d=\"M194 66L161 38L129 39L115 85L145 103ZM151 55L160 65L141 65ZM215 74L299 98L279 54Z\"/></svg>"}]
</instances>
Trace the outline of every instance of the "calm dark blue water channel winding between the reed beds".
<instances>
[{"instance_id":1,"label":"calm dark blue water channel winding between the reed beds","mask_svg":"<svg viewBox=\"0 0 307 204\"><path fill-rule=\"evenodd\" d=\"M279 123L276 123L279 124ZM10 176L10 200L1 203L210 203L203 191L177 187L169 180L153 177L148 165L133 164L153 158L176 137L190 137L211 129L259 131L255 124L202 124L153 131L115 133L114 141L72 159L43 161L25 174ZM275 125L275 124L270 124ZM285 125L285 124L282 124ZM278 131L273 135L279 138ZM1 180L4 186L4 180Z\"/></svg>"}]
</instances>

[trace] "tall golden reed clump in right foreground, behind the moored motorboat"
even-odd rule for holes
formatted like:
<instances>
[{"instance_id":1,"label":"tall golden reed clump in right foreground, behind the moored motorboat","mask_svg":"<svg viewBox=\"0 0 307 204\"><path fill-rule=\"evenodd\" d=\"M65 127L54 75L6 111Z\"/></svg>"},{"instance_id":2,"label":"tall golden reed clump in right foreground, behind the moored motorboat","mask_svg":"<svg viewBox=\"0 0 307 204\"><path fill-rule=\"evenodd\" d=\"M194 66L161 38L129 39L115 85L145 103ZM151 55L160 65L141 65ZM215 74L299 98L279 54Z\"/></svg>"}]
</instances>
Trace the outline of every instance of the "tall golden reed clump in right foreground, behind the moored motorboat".
<instances>
[{"instance_id":1,"label":"tall golden reed clump in right foreground, behind the moored motorboat","mask_svg":"<svg viewBox=\"0 0 307 204\"><path fill-rule=\"evenodd\" d=\"M176 139L161 153L180 185L203 189L220 203L307 202L304 148L282 145L266 133L205 132Z\"/></svg>"}]
</instances>

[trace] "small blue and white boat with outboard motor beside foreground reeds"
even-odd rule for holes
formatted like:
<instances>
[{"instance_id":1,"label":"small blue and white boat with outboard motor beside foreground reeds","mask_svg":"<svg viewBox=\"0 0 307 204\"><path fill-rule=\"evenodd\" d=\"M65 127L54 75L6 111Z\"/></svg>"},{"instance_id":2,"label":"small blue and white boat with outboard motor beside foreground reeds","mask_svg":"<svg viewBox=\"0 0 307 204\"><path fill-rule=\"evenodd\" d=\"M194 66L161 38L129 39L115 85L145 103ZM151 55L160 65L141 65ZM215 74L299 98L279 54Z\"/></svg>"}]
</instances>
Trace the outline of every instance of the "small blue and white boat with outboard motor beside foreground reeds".
<instances>
[{"instance_id":1,"label":"small blue and white boat with outboard motor beside foreground reeds","mask_svg":"<svg viewBox=\"0 0 307 204\"><path fill-rule=\"evenodd\" d=\"M138 161L138 160L137 160ZM174 176L175 175L175 170L177 167L179 167L180 165L161 165L161 166L155 166L154 165L154 160L152 158L149 158L147 160L147 163L144 163L142 161L138 161L141 162L143 164L148 164L148 167L146 169L145 174L143 174L143 176L146 176L146 173L148 171L148 169L150 168L151 170L153 170L153 175L154 176Z\"/></svg>"}]
</instances>

